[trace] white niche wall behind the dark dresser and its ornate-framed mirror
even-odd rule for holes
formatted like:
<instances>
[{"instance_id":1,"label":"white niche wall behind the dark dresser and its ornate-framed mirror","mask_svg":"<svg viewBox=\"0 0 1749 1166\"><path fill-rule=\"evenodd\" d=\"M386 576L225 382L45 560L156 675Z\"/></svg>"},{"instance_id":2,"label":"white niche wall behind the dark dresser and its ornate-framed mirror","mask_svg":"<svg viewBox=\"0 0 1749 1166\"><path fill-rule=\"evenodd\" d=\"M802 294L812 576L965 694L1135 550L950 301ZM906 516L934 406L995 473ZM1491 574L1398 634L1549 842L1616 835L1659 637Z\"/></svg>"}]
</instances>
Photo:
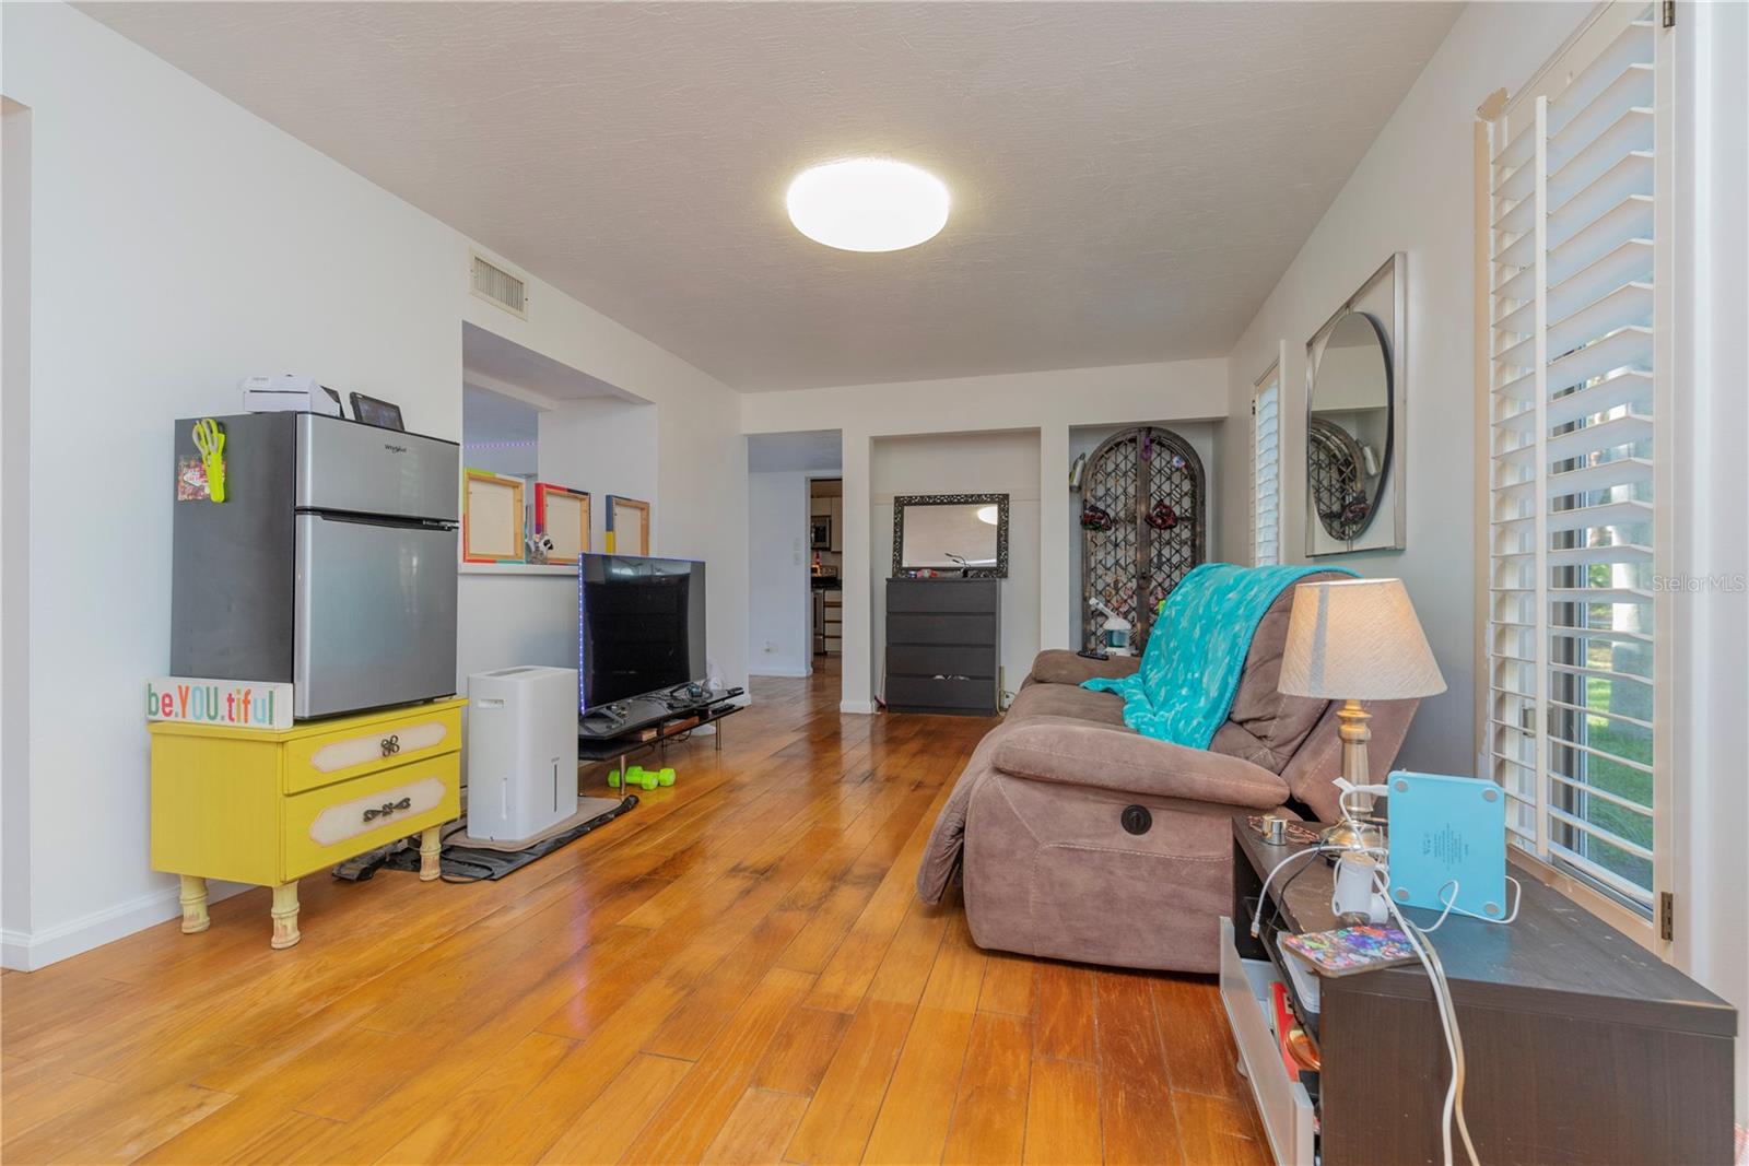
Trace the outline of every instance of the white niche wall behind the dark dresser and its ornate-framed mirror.
<instances>
[{"instance_id":1,"label":"white niche wall behind the dark dresser and its ornate-framed mirror","mask_svg":"<svg viewBox=\"0 0 1749 1166\"><path fill-rule=\"evenodd\" d=\"M1002 687L1016 691L1039 654L1041 561L1034 552L1039 545L1039 432L927 434L874 442L869 456L869 596L876 670L887 643L894 495L1007 495ZM845 619L848 622L848 612Z\"/></svg>"}]
</instances>

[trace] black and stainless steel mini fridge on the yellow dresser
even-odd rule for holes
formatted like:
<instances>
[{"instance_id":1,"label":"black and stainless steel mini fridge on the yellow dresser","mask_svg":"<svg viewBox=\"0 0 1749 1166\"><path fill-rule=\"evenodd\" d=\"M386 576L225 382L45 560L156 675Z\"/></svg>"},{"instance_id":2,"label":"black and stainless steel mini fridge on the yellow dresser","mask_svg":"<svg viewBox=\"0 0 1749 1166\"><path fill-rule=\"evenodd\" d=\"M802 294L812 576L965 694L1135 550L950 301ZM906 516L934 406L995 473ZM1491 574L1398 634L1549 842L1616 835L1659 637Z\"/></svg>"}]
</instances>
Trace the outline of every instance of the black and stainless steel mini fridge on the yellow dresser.
<instances>
[{"instance_id":1,"label":"black and stainless steel mini fridge on the yellow dresser","mask_svg":"<svg viewBox=\"0 0 1749 1166\"><path fill-rule=\"evenodd\" d=\"M313 413L224 427L226 500L177 421L170 670L290 680L296 717L455 692L455 442Z\"/></svg>"}]
</instances>

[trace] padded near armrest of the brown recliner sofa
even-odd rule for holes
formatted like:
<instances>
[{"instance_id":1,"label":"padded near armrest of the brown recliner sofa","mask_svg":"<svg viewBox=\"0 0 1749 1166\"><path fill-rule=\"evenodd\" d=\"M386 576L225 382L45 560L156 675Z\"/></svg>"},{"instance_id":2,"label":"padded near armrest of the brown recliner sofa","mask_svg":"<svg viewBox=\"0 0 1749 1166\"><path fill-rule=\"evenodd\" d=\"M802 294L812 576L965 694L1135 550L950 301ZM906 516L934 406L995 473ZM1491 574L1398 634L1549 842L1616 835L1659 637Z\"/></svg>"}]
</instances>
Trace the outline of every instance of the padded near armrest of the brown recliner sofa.
<instances>
[{"instance_id":1,"label":"padded near armrest of the brown recliner sofa","mask_svg":"<svg viewBox=\"0 0 1749 1166\"><path fill-rule=\"evenodd\" d=\"M1105 725L1016 725L990 760L1009 776L1118 794L1256 809L1287 801L1287 783L1263 766Z\"/></svg>"}]
</instances>

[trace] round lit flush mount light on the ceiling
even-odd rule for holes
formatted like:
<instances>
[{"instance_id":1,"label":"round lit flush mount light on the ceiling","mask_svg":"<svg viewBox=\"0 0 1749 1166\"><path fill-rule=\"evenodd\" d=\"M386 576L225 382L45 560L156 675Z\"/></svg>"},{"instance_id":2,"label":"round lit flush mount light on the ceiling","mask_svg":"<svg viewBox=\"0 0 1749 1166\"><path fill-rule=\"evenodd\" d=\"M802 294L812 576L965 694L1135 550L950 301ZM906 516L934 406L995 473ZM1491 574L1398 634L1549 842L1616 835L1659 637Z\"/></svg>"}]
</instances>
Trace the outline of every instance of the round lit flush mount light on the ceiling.
<instances>
[{"instance_id":1,"label":"round lit flush mount light on the ceiling","mask_svg":"<svg viewBox=\"0 0 1749 1166\"><path fill-rule=\"evenodd\" d=\"M789 220L815 243L845 252L897 252L948 224L948 187L890 157L847 157L796 175Z\"/></svg>"}]
</instances>

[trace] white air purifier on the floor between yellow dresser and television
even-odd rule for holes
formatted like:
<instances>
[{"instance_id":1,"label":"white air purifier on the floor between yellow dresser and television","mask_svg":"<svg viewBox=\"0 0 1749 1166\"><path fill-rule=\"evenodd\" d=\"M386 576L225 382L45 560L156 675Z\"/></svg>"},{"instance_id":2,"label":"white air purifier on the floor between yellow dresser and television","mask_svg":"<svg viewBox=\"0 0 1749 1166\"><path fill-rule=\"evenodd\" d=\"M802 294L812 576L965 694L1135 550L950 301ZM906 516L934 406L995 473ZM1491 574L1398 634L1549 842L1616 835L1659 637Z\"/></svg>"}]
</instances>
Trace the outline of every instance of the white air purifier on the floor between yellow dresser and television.
<instances>
[{"instance_id":1,"label":"white air purifier on the floor between yellow dresser and television","mask_svg":"<svg viewBox=\"0 0 1749 1166\"><path fill-rule=\"evenodd\" d=\"M467 678L467 832L519 843L577 813L577 671Z\"/></svg>"}]
</instances>

